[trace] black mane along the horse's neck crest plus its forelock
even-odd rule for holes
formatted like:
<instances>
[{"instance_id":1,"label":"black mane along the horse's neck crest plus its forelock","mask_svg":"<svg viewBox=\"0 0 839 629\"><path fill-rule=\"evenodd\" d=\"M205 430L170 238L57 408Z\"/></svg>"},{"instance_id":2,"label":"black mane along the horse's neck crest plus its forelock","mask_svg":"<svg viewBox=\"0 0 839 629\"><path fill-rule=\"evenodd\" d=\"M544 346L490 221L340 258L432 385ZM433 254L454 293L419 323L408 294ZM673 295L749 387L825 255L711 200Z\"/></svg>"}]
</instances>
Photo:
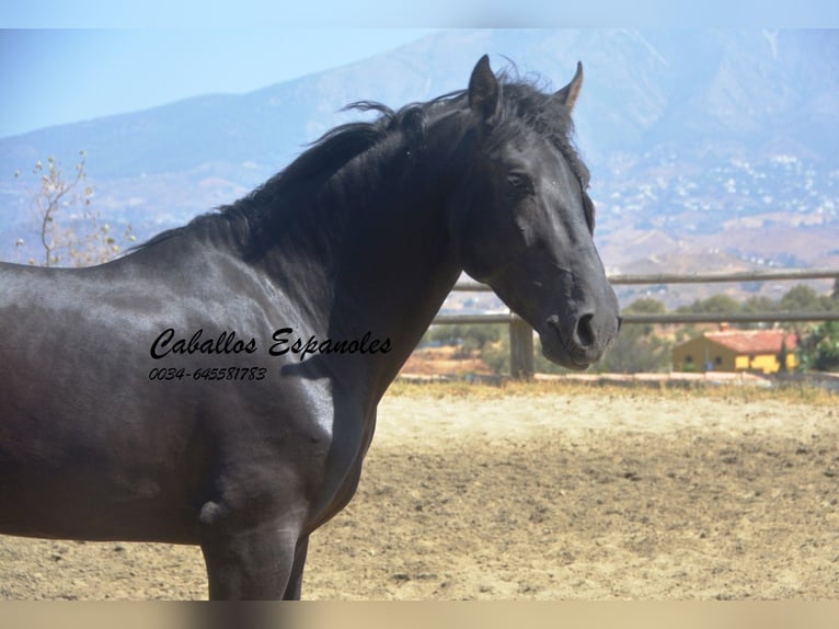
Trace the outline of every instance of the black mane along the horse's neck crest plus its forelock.
<instances>
[{"instance_id":1,"label":"black mane along the horse's neck crest plus its forelock","mask_svg":"<svg viewBox=\"0 0 839 629\"><path fill-rule=\"evenodd\" d=\"M503 70L497 78L501 104L486 141L491 145L503 144L526 128L535 130L558 147L585 190L589 174L573 145L574 127L570 111L551 102L552 94L540 89L538 79L520 78L515 67ZM450 92L424 103L412 103L396 111L372 101L352 103L343 111L375 112L378 117L369 122L340 125L326 131L286 169L246 196L215 211L197 216L183 227L164 231L140 248L198 226L214 231L225 228L243 231L239 240L245 242L263 231L266 222L273 222L272 217L288 205L289 199L311 190L312 185L326 182L356 157L376 150L396 134L400 134L401 141L421 150L426 128L435 116L466 110L468 106L466 90Z\"/></svg>"}]
</instances>

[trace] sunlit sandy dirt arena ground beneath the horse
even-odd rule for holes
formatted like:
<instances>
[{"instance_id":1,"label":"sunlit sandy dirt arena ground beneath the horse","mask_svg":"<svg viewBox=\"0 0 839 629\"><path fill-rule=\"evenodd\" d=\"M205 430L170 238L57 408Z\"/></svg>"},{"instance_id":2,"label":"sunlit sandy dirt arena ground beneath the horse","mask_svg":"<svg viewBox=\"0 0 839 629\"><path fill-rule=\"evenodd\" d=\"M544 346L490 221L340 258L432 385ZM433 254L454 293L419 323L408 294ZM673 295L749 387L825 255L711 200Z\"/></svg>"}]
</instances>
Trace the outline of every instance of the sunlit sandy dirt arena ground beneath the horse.
<instances>
[{"instance_id":1,"label":"sunlit sandy dirt arena ground beneath the horse","mask_svg":"<svg viewBox=\"0 0 839 629\"><path fill-rule=\"evenodd\" d=\"M839 403L401 385L304 598L839 594ZM0 598L205 598L197 548L0 536Z\"/></svg>"}]
</instances>

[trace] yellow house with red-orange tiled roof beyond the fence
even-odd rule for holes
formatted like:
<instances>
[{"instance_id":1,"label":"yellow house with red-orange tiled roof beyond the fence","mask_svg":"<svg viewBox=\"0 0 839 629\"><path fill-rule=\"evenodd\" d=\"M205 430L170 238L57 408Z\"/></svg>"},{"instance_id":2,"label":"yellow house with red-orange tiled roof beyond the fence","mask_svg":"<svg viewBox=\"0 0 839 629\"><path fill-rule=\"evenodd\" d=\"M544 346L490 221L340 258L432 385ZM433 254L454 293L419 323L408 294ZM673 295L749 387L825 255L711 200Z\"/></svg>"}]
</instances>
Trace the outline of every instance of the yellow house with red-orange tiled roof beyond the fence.
<instances>
[{"instance_id":1,"label":"yellow house with red-orange tiled roof beyond the fence","mask_svg":"<svg viewBox=\"0 0 839 629\"><path fill-rule=\"evenodd\" d=\"M774 374L781 368L783 353L786 368L797 365L795 334L783 330L722 330L678 345L673 351L675 371L761 371Z\"/></svg>"}]
</instances>

